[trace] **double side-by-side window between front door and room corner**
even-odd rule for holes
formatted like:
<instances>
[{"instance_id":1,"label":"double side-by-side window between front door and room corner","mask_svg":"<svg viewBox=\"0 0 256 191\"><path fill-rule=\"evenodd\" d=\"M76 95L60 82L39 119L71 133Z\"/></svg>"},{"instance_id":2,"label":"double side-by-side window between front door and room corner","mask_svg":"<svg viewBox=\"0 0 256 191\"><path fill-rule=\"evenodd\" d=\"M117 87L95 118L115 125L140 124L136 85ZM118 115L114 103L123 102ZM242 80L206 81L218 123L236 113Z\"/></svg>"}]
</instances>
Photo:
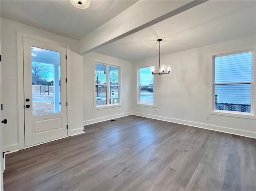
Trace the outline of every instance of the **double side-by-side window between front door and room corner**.
<instances>
[{"instance_id":1,"label":"double side-by-side window between front door and room corner","mask_svg":"<svg viewBox=\"0 0 256 191\"><path fill-rule=\"evenodd\" d=\"M97 62L94 67L95 107L118 105L120 67Z\"/></svg>"}]
</instances>

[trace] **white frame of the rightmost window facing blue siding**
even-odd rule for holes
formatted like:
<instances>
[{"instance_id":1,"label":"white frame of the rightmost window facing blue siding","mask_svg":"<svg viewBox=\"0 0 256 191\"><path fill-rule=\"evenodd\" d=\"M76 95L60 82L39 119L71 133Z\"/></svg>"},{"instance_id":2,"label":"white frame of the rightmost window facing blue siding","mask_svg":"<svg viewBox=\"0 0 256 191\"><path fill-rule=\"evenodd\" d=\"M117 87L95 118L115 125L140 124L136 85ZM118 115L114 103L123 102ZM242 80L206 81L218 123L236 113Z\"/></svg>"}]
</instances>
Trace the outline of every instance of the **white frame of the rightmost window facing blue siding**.
<instances>
[{"instance_id":1,"label":"white frame of the rightmost window facing blue siding","mask_svg":"<svg viewBox=\"0 0 256 191\"><path fill-rule=\"evenodd\" d=\"M215 57L234 55L239 53L247 53L252 52L252 79L251 82L235 82L235 83L215 83ZM235 49L232 51L221 51L217 53L210 54L210 63L211 66L209 69L209 114L214 115L222 115L222 116L231 116L231 117L239 117L239 118L250 118L256 119L255 116L255 95L256 95L256 87L255 87L255 47L244 47L242 49ZM229 110L216 110L215 109L215 85L222 84L248 84L251 85L251 112L238 112L238 111L229 111Z\"/></svg>"}]
</instances>

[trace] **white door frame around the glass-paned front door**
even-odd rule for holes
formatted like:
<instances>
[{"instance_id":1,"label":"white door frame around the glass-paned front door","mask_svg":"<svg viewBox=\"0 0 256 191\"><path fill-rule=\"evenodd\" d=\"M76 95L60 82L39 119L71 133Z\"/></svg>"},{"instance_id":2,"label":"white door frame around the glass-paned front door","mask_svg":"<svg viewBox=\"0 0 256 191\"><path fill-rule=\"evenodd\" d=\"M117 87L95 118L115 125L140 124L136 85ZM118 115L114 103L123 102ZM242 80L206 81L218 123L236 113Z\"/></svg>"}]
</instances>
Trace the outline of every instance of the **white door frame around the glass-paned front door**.
<instances>
[{"instance_id":1,"label":"white door frame around the glass-paned front door","mask_svg":"<svg viewBox=\"0 0 256 191\"><path fill-rule=\"evenodd\" d=\"M23 73L23 37L38 40L38 41L43 41L45 43L51 43L54 45L62 46L66 48L66 78L70 79L70 45L65 44L65 43L58 43L56 41L38 37L35 35L27 34L27 33L22 33L22 32L17 32L17 74L18 74L18 130L19 130L19 148L17 150L22 150L24 148L29 148L32 146L25 147L25 120L24 120L24 73ZM67 102L70 102L70 83L67 83L67 88L66 88L66 94L67 94ZM67 124L69 124L70 117L69 117L69 109L70 107L67 107ZM68 136L71 136L71 130L68 128ZM53 140L51 140L53 141ZM48 142L51 142L48 141ZM40 143L40 144L44 144ZM36 144L36 145L40 145ZM33 146L36 146L33 145Z\"/></svg>"}]
</instances>

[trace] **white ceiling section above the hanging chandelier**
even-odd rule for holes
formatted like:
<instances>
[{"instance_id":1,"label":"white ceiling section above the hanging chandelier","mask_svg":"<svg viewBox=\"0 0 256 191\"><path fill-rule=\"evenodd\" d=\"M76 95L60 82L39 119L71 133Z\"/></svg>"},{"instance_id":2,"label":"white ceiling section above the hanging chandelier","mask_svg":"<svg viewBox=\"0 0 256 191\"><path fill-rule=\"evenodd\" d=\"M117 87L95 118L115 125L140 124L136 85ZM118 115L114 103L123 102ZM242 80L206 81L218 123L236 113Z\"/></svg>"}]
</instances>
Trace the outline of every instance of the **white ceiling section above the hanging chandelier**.
<instances>
[{"instance_id":1,"label":"white ceiling section above the hanging chandelier","mask_svg":"<svg viewBox=\"0 0 256 191\"><path fill-rule=\"evenodd\" d=\"M256 33L256 1L208 1L95 52L129 61L183 51Z\"/></svg>"}]
</instances>

